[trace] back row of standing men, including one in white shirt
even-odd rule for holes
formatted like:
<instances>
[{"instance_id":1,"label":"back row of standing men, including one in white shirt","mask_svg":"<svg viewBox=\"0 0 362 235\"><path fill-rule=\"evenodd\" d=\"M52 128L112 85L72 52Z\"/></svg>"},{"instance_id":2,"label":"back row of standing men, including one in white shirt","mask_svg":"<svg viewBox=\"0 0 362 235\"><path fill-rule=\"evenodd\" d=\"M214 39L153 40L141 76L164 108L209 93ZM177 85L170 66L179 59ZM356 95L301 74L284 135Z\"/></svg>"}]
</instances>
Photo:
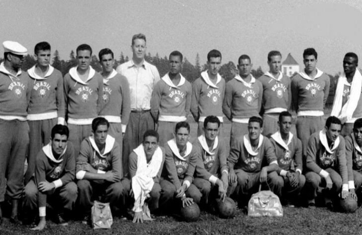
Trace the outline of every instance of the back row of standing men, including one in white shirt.
<instances>
[{"instance_id":1,"label":"back row of standing men, including one in white shirt","mask_svg":"<svg viewBox=\"0 0 362 235\"><path fill-rule=\"evenodd\" d=\"M3 138L0 148L4 155L0 160L0 202L4 200L6 188L12 202L13 220L16 220L23 187L18 173L22 172L29 136L25 183L34 174L36 155L48 143L51 127L56 123L64 124L65 120L76 159L82 141L91 134L93 118L102 116L108 120L110 135L120 149L123 147L120 150L123 161L121 178L129 175L129 155L144 141L146 130L155 129L156 123L161 146L166 147L176 123L184 121L189 111L199 123L199 134L202 133L205 117L212 114L222 122L224 113L232 120L230 143L233 144L239 136L248 133L249 117L258 117L261 110L264 134L275 133L278 115L288 110L292 103L297 112L296 132L302 142L303 156L307 153L308 137L324 126L323 108L330 82L329 77L316 68L317 53L314 49L304 51L305 69L291 81L280 72L279 52L272 51L268 55L270 71L258 80L251 74L250 57L242 55L238 60L239 74L226 85L218 74L221 53L212 50L207 57L208 70L202 72L191 86L180 73L182 54L177 51L170 55L170 72L160 80L157 68L144 60L146 37L142 34L132 38L133 58L119 65L117 70L113 69L113 53L109 49L101 50L101 74L90 66L90 46L80 45L77 48L78 66L71 68L64 79L49 64L49 44L36 45L37 64L27 73L20 69L27 50L9 41L3 46L5 60L0 65L0 134ZM357 65L357 55L346 54L345 72L341 76L344 79L339 79L332 111L345 123L345 135L351 133L354 120L362 116L362 106L359 105L361 73L356 69ZM85 169L88 169L87 166Z\"/></svg>"}]
</instances>

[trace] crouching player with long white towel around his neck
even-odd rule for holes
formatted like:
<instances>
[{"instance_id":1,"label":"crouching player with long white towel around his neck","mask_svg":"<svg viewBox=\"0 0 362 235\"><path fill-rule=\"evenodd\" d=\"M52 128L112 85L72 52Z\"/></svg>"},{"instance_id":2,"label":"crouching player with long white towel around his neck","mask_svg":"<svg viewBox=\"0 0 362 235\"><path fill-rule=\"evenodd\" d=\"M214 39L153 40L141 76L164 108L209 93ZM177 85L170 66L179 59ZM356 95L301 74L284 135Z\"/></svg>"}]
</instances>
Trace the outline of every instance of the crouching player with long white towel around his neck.
<instances>
[{"instance_id":1,"label":"crouching player with long white towel around his neck","mask_svg":"<svg viewBox=\"0 0 362 235\"><path fill-rule=\"evenodd\" d=\"M154 212L159 207L159 180L164 167L165 150L158 142L158 133L147 130L143 135L143 143L129 155L131 194L134 197L133 223L143 223L144 215L150 216L148 212Z\"/></svg>"}]
</instances>

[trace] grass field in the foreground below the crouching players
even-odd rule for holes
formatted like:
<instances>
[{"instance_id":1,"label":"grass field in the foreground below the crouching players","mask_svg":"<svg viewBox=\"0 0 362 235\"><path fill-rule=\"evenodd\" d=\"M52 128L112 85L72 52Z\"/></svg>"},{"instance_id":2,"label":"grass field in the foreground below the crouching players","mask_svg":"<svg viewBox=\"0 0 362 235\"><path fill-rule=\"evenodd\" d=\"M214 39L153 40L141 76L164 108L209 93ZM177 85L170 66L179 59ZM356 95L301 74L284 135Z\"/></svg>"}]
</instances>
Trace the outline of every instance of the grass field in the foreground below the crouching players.
<instances>
[{"instance_id":1,"label":"grass field in the foreground below the crouching players","mask_svg":"<svg viewBox=\"0 0 362 235\"><path fill-rule=\"evenodd\" d=\"M1 235L78 235L78 234L125 234L125 235L217 235L217 234L257 234L257 235L300 235L300 234L362 234L362 209L354 214L331 212L326 208L286 208L284 216L276 217L248 217L244 211L238 210L234 219L220 219L216 215L202 212L197 222L186 223L173 217L156 217L154 221L144 224L133 224L130 220L115 218L110 230L95 230L82 224L80 221L70 221L62 227L51 221L42 232L30 231L26 226L14 226L4 219L0 227Z\"/></svg>"}]
</instances>

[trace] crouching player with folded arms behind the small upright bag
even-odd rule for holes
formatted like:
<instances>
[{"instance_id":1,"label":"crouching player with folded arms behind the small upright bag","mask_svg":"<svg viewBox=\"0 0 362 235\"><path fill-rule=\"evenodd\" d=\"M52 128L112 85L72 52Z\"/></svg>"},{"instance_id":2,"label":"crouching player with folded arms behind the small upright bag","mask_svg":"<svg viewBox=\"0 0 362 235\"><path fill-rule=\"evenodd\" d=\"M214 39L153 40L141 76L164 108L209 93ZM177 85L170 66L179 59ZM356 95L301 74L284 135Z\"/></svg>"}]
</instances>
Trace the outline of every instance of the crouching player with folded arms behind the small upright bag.
<instances>
[{"instance_id":1,"label":"crouching player with folded arms behind the small upright bag","mask_svg":"<svg viewBox=\"0 0 362 235\"><path fill-rule=\"evenodd\" d=\"M84 213L84 224L90 222L93 200L100 198L102 202L109 202L114 214L124 208L130 187L129 180L122 178L119 145L108 135L109 122L104 117L96 117L91 125L93 135L83 140L76 165L78 200Z\"/></svg>"}]
</instances>

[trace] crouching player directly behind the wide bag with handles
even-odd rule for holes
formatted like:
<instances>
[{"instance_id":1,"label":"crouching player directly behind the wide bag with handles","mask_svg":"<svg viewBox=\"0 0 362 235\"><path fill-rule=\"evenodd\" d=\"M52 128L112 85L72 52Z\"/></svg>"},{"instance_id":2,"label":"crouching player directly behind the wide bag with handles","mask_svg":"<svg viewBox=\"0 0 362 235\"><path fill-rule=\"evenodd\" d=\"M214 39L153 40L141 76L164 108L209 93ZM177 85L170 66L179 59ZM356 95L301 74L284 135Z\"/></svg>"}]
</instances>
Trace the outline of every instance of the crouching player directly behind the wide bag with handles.
<instances>
[{"instance_id":1,"label":"crouching player directly behind the wide bag with handles","mask_svg":"<svg viewBox=\"0 0 362 235\"><path fill-rule=\"evenodd\" d=\"M249 133L235 139L230 146L227 194L235 193L233 196L240 205L248 202L251 194L258 191L260 183L266 182L274 193L280 192L283 186L283 180L276 173L278 162L271 142L261 134L262 126L262 118L250 117Z\"/></svg>"}]
</instances>

